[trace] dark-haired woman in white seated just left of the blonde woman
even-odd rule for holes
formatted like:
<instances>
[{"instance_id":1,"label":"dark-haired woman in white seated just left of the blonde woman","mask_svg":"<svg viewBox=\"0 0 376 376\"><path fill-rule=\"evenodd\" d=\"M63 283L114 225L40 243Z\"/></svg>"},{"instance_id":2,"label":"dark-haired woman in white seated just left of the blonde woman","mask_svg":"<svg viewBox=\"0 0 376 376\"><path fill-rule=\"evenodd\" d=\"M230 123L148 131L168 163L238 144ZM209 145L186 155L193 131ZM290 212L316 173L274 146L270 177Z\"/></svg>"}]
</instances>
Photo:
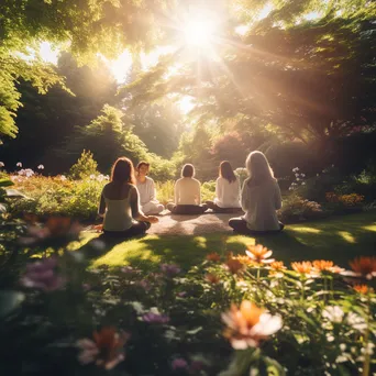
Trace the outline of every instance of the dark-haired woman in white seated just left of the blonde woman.
<instances>
[{"instance_id":1,"label":"dark-haired woman in white seated just left of the blonde woman","mask_svg":"<svg viewBox=\"0 0 376 376\"><path fill-rule=\"evenodd\" d=\"M240 181L229 161L221 162L215 181L215 198L214 201L207 201L207 204L209 209L222 213L241 209Z\"/></svg>"}]
</instances>

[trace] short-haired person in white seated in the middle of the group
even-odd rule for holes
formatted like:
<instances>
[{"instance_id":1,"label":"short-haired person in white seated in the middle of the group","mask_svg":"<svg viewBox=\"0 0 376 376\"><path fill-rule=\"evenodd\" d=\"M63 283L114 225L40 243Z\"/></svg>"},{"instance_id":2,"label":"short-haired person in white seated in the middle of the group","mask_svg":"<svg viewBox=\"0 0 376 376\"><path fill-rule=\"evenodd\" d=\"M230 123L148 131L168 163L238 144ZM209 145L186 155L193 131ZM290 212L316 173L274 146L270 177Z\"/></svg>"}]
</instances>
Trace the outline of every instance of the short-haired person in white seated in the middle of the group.
<instances>
[{"instance_id":1,"label":"short-haired person in white seated in the middle of the group","mask_svg":"<svg viewBox=\"0 0 376 376\"><path fill-rule=\"evenodd\" d=\"M184 165L181 178L175 183L175 203L167 203L167 209L174 214L202 214L208 206L201 204L201 185L193 178L195 167Z\"/></svg>"}]
</instances>

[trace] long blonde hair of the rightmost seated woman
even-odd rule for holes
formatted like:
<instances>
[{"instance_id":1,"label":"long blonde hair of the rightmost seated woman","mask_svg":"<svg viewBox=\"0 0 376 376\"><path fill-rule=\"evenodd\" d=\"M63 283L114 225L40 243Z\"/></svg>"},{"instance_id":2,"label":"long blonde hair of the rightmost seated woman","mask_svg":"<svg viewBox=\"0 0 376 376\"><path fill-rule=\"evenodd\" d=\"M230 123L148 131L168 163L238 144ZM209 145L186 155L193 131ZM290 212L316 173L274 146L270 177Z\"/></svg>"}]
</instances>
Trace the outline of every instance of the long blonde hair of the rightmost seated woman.
<instances>
[{"instance_id":1,"label":"long blonde hair of the rightmost seated woman","mask_svg":"<svg viewBox=\"0 0 376 376\"><path fill-rule=\"evenodd\" d=\"M252 152L245 159L245 167L247 169L250 178L247 179L248 185L261 185L264 181L274 181L273 169L262 152Z\"/></svg>"}]
</instances>

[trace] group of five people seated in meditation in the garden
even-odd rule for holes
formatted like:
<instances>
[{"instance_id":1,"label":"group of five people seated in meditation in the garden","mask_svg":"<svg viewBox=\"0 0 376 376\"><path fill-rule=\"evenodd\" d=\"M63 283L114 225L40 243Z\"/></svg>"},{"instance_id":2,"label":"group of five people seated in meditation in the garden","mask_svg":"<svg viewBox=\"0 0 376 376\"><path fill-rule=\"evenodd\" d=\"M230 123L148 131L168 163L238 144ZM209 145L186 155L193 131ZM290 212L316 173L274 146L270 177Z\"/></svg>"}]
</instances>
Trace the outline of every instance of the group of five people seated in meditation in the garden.
<instances>
[{"instance_id":1,"label":"group of five people seated in meditation in the garden","mask_svg":"<svg viewBox=\"0 0 376 376\"><path fill-rule=\"evenodd\" d=\"M195 167L186 164L181 178L175 183L175 202L167 203L174 214L201 214L208 209L214 212L235 212L244 215L232 218L229 225L239 233L255 234L279 232L284 224L276 210L281 207L280 190L266 156L252 152L246 161L248 178L243 183L234 174L231 164L220 164L215 181L215 198L201 203L201 185L195 179ZM143 234L165 207L156 199L155 184L147 176L150 164L140 162L135 168L132 161L118 158L111 172L111 181L102 190L98 213L103 218L106 235L132 237Z\"/></svg>"}]
</instances>

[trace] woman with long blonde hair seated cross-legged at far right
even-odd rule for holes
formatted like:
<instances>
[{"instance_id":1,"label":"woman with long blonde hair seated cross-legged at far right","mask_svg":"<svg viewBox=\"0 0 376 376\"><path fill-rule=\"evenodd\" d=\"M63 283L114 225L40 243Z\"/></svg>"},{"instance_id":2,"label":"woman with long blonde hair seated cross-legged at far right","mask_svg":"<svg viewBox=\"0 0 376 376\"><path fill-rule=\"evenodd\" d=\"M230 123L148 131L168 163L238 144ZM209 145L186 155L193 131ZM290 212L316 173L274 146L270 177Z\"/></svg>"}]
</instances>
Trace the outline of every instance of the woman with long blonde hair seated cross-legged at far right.
<instances>
[{"instance_id":1,"label":"woman with long blonde hair seated cross-legged at far right","mask_svg":"<svg viewBox=\"0 0 376 376\"><path fill-rule=\"evenodd\" d=\"M276 210L281 208L280 189L266 156L252 152L245 161L248 178L244 180L241 204L245 214L232 218L229 225L240 233L279 232L284 224Z\"/></svg>"}]
</instances>

